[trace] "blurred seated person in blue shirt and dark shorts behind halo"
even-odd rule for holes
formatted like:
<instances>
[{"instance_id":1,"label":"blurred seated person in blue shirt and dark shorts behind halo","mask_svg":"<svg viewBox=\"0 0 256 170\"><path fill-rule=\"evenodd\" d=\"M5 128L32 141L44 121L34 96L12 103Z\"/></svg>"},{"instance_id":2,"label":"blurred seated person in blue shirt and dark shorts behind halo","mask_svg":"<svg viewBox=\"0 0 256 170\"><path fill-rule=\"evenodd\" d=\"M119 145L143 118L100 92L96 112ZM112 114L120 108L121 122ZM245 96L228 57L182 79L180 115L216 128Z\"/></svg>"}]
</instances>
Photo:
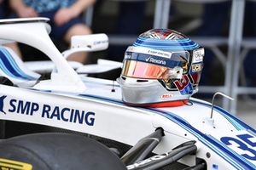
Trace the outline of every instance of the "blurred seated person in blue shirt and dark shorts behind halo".
<instances>
[{"instance_id":1,"label":"blurred seated person in blue shirt and dark shorts behind halo","mask_svg":"<svg viewBox=\"0 0 256 170\"><path fill-rule=\"evenodd\" d=\"M20 18L47 17L52 30L49 36L56 41L70 44L75 35L90 34L90 28L85 26L81 14L95 0L9 0L10 8ZM86 62L85 53L76 53L69 60Z\"/></svg>"}]
</instances>

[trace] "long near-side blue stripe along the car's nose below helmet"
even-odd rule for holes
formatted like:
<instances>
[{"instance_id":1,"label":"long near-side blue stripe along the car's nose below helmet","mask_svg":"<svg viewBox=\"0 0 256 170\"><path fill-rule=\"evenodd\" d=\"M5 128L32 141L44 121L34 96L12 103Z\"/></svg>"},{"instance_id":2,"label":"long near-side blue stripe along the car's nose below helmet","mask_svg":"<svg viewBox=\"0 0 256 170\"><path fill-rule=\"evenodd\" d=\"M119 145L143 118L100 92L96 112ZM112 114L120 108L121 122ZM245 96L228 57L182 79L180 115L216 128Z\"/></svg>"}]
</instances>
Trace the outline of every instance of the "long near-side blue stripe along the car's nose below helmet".
<instances>
[{"instance_id":1,"label":"long near-side blue stripe along the car's nose below helmet","mask_svg":"<svg viewBox=\"0 0 256 170\"><path fill-rule=\"evenodd\" d=\"M117 105L125 105L121 100L117 100L117 99L116 100L108 99L108 98L102 98L94 95L87 95L87 94L79 94L79 96L90 98L90 99L100 99L100 100L107 101ZM237 169L256 169L256 167L251 162L245 161L245 159L242 156L234 154L233 151L227 149L227 146L217 142L215 139L212 139L206 134L201 133L201 131L199 131L195 127L192 127L188 122L183 120L183 118L173 114L172 112L163 111L155 108L142 108L142 107L135 107L135 108L137 108L138 110L154 112L155 114L158 114L160 116L165 116L172 122L177 123L180 127L183 127L189 133L192 133L193 135L195 135L195 137L199 139L201 143L206 144L212 151L217 153L218 156L221 156L222 158L224 158L225 161L230 162L230 164L236 167ZM216 109L218 108L214 108L214 110Z\"/></svg>"}]
</instances>

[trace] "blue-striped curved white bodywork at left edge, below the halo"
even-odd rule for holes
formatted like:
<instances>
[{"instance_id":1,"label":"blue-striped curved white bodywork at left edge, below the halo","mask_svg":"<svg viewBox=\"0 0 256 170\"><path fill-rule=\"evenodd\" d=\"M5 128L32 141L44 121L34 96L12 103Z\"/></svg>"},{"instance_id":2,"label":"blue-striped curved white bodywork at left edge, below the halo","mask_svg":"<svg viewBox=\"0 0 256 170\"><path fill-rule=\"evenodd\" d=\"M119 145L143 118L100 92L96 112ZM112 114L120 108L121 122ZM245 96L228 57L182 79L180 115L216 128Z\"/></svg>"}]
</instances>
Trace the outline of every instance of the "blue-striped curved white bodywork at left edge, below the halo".
<instances>
[{"instance_id":1,"label":"blue-striped curved white bodywork at left edge, below the halo","mask_svg":"<svg viewBox=\"0 0 256 170\"><path fill-rule=\"evenodd\" d=\"M24 71L20 70L20 67L16 64L9 51L5 48L0 48L0 68L1 70L13 78L20 78L25 80L37 80L36 77L27 75Z\"/></svg>"}]
</instances>

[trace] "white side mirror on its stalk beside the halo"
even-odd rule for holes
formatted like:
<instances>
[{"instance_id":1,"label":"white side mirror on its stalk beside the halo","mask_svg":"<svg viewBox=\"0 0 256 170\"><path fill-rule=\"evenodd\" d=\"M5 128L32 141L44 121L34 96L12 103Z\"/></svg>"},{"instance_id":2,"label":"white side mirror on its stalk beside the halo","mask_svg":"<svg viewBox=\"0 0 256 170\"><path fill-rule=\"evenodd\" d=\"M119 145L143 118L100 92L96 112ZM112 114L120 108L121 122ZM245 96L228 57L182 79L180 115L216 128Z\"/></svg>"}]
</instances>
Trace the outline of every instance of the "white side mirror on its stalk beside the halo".
<instances>
[{"instance_id":1,"label":"white side mirror on its stalk beside the halo","mask_svg":"<svg viewBox=\"0 0 256 170\"><path fill-rule=\"evenodd\" d=\"M94 52L107 48L108 36L106 34L73 36L71 38L71 48L64 51L62 55L67 58L70 54L77 52Z\"/></svg>"}]
</instances>

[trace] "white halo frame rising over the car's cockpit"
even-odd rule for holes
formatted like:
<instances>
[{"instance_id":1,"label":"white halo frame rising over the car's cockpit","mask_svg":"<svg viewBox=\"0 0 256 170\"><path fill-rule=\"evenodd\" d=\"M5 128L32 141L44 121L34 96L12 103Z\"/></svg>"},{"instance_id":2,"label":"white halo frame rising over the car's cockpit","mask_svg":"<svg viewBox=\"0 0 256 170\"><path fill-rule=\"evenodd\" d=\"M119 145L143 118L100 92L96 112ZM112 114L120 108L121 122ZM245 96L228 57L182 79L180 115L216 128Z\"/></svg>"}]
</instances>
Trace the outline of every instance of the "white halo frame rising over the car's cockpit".
<instances>
[{"instance_id":1,"label":"white halo frame rising over the car's cockpit","mask_svg":"<svg viewBox=\"0 0 256 170\"><path fill-rule=\"evenodd\" d=\"M76 92L85 90L84 83L81 82L76 72L67 64L54 43L49 38L50 27L46 23L48 19L38 18L30 19L29 24L25 19L15 19L15 23L9 20L2 20L4 24L0 25L0 37L7 40L15 40L23 42L33 48L44 52L55 63L57 74L52 73L51 79L48 82L40 82L37 88L44 89L70 89ZM5 24L7 23L7 24ZM65 83L65 85L63 85Z\"/></svg>"}]
</instances>

